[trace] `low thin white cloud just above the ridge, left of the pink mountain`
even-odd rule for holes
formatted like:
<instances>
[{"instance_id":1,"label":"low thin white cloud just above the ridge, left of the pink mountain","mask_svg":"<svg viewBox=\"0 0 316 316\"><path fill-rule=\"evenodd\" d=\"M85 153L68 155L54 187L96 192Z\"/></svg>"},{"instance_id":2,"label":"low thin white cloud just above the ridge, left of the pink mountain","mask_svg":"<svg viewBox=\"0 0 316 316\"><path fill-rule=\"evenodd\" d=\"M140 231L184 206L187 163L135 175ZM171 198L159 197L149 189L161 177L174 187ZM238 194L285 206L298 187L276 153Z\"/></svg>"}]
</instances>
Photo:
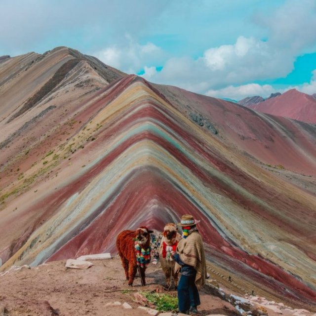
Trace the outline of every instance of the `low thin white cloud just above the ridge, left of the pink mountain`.
<instances>
[{"instance_id":1,"label":"low thin white cloud just above the ridge, left of the pink mountain","mask_svg":"<svg viewBox=\"0 0 316 316\"><path fill-rule=\"evenodd\" d=\"M245 97L255 95L266 98L274 92L276 92L276 90L270 84L260 85L257 83L249 83L240 86L230 85L218 90L208 90L205 94L215 98L230 98L238 101Z\"/></svg>"}]
</instances>

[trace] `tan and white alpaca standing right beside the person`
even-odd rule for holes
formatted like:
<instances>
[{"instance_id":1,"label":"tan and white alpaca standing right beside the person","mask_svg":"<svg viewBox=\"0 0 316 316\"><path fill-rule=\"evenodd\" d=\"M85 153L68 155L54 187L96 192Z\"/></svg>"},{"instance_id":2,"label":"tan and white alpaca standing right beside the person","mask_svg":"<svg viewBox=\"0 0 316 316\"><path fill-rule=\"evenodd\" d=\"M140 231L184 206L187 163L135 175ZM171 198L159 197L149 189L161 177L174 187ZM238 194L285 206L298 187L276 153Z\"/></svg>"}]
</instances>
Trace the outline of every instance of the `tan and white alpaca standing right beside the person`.
<instances>
[{"instance_id":1,"label":"tan and white alpaca standing right beside the person","mask_svg":"<svg viewBox=\"0 0 316 316\"><path fill-rule=\"evenodd\" d=\"M162 239L159 249L159 260L162 271L166 276L166 287L171 286L171 277L173 277L175 288L178 287L178 274L174 272L175 262L170 256L171 249L175 251L178 241L181 236L178 234L178 228L173 223L165 225L162 233Z\"/></svg>"}]
</instances>

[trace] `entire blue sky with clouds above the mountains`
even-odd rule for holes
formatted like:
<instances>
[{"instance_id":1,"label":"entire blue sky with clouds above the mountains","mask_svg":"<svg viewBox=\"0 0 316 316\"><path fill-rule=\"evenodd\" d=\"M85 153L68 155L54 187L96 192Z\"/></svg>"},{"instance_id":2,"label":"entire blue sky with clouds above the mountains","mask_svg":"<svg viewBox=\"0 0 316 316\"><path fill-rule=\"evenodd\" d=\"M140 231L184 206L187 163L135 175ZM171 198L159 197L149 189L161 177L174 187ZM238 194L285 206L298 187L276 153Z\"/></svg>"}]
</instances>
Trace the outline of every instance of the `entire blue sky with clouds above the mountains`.
<instances>
[{"instance_id":1,"label":"entire blue sky with clouds above the mountains","mask_svg":"<svg viewBox=\"0 0 316 316\"><path fill-rule=\"evenodd\" d=\"M316 93L315 0L0 0L0 55L69 46L220 98Z\"/></svg>"}]
</instances>

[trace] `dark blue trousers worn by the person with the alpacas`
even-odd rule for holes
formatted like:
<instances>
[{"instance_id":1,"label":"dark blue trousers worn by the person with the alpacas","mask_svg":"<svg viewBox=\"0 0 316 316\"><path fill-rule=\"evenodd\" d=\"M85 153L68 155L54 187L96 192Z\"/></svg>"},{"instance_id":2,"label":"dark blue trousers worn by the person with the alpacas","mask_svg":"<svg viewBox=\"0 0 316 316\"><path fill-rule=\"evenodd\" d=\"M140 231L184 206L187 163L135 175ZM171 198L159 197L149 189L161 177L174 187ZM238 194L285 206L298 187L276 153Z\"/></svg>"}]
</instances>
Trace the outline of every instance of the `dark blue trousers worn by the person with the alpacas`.
<instances>
[{"instance_id":1,"label":"dark blue trousers worn by the person with the alpacas","mask_svg":"<svg viewBox=\"0 0 316 316\"><path fill-rule=\"evenodd\" d=\"M188 311L190 307L201 304L199 300L197 286L195 284L196 275L197 272L195 270L193 275L181 275L178 284L178 303L179 311L181 312Z\"/></svg>"}]
</instances>

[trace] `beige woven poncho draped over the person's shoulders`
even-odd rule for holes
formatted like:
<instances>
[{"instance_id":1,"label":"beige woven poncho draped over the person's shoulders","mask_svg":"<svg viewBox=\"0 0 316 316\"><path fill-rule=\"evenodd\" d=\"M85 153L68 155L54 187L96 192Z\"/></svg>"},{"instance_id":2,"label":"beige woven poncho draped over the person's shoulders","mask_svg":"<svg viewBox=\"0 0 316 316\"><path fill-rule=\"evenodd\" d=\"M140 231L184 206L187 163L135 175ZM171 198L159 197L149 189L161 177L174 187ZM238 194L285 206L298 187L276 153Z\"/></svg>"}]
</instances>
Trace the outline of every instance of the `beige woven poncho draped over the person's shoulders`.
<instances>
[{"instance_id":1,"label":"beige woven poncho draped over the person's shoulders","mask_svg":"<svg viewBox=\"0 0 316 316\"><path fill-rule=\"evenodd\" d=\"M195 283L197 289L200 290L205 283L206 264L203 241L199 233L192 232L187 238L182 238L178 243L177 253L185 264L194 267L197 271ZM175 269L177 268L180 268L178 264Z\"/></svg>"}]
</instances>

